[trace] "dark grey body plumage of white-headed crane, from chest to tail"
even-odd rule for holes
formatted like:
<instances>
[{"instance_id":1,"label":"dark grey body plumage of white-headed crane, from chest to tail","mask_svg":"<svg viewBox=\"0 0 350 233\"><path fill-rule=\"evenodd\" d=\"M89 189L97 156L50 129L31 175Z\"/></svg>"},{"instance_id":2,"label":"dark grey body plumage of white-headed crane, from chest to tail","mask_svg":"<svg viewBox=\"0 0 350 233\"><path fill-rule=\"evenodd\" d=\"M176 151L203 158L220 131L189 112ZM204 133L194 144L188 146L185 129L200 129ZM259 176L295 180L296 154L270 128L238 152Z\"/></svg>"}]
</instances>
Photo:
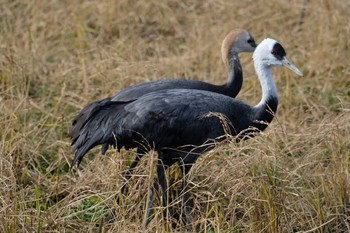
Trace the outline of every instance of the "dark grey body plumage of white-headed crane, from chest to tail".
<instances>
[{"instance_id":1,"label":"dark grey body plumage of white-headed crane, from chest to tail","mask_svg":"<svg viewBox=\"0 0 350 233\"><path fill-rule=\"evenodd\" d=\"M275 112L277 99L271 99L268 104ZM208 115L210 113L214 114ZM156 151L181 147L187 154L193 149L190 145L199 146L225 134L224 125L215 114L227 119L231 135L249 127L263 130L266 124L259 121L272 120L266 106L259 109L225 95L200 90L162 90L127 103L106 101L75 142L74 163L99 144Z\"/></svg>"}]
</instances>

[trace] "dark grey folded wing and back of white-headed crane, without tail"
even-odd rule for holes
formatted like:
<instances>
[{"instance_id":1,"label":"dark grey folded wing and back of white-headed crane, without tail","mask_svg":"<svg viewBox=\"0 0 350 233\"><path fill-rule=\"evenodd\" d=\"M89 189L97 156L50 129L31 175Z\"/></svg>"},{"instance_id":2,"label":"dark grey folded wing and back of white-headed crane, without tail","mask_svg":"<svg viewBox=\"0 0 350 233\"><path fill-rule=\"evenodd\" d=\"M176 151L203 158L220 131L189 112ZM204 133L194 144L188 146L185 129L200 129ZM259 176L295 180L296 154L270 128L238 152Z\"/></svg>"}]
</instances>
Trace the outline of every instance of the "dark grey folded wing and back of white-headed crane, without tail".
<instances>
[{"instance_id":1,"label":"dark grey folded wing and back of white-headed crane, without tail","mask_svg":"<svg viewBox=\"0 0 350 233\"><path fill-rule=\"evenodd\" d=\"M201 145L248 127L251 107L230 97L198 90L162 90L126 104L114 128L120 146L145 139L154 149ZM225 128L228 127L228 128ZM139 136L138 136L139 135Z\"/></svg>"}]
</instances>

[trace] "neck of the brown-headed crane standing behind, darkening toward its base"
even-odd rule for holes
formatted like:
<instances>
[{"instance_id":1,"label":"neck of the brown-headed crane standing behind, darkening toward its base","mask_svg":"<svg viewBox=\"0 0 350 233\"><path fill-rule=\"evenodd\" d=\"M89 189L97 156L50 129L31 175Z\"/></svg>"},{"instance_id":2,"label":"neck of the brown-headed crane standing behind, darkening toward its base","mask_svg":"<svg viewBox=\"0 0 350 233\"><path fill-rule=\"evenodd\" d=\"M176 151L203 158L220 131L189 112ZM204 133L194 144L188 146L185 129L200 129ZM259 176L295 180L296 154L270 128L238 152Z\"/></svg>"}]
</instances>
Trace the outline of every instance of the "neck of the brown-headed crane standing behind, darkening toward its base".
<instances>
[{"instance_id":1,"label":"neck of the brown-headed crane standing behind, darkening toward its base","mask_svg":"<svg viewBox=\"0 0 350 233\"><path fill-rule=\"evenodd\" d=\"M231 51L226 63L227 83L224 85L226 95L236 97L242 88L243 74L242 66L236 51Z\"/></svg>"}]
</instances>

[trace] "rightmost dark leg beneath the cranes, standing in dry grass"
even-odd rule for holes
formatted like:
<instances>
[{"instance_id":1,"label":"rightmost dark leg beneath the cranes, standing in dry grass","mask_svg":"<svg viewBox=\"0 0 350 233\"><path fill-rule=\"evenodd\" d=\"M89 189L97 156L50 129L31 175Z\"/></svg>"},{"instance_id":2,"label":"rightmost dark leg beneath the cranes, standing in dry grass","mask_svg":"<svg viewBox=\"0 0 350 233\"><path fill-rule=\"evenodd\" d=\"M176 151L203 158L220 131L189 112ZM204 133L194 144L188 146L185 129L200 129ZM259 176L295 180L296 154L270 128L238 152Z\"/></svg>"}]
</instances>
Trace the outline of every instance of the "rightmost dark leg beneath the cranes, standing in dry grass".
<instances>
[{"instance_id":1,"label":"rightmost dark leg beneath the cranes, standing in dry grass","mask_svg":"<svg viewBox=\"0 0 350 233\"><path fill-rule=\"evenodd\" d=\"M192 229L191 212L193 206L190 203L190 193L188 189L188 173L191 170L192 164L186 164L182 159L180 159L180 167L182 170L182 207L183 213L185 214L186 226Z\"/></svg>"}]
</instances>

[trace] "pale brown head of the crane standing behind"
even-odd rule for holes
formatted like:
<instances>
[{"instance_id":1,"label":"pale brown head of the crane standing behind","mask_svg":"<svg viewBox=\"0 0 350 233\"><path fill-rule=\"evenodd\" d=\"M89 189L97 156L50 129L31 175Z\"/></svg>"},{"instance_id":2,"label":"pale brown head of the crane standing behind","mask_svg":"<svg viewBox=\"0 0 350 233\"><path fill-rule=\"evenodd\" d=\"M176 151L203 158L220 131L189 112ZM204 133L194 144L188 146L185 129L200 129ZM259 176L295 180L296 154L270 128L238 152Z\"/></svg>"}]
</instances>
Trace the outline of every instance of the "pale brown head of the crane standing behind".
<instances>
[{"instance_id":1,"label":"pale brown head of the crane standing behind","mask_svg":"<svg viewBox=\"0 0 350 233\"><path fill-rule=\"evenodd\" d=\"M233 29L230 31L221 45L221 56L226 66L232 56L242 52L254 52L257 44L254 37L244 29Z\"/></svg>"}]
</instances>

